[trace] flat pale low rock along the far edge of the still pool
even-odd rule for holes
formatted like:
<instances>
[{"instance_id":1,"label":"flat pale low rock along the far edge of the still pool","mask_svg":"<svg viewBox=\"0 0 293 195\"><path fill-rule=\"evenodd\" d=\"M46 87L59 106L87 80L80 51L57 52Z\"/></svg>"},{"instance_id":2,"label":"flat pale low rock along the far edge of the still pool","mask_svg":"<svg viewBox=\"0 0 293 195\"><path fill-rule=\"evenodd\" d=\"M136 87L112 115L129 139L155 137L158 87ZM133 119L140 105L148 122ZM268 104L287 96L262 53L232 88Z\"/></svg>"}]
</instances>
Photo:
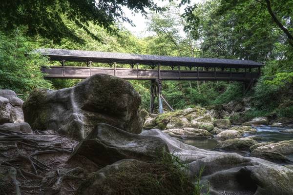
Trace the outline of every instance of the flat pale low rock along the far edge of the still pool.
<instances>
[{"instance_id":1,"label":"flat pale low rock along the far edge of the still pool","mask_svg":"<svg viewBox=\"0 0 293 195\"><path fill-rule=\"evenodd\" d=\"M164 130L163 132L168 134L171 137L178 137L182 139L213 137L213 135L205 129L194 129L190 127L186 127L183 129L168 129L168 130Z\"/></svg>"}]
</instances>

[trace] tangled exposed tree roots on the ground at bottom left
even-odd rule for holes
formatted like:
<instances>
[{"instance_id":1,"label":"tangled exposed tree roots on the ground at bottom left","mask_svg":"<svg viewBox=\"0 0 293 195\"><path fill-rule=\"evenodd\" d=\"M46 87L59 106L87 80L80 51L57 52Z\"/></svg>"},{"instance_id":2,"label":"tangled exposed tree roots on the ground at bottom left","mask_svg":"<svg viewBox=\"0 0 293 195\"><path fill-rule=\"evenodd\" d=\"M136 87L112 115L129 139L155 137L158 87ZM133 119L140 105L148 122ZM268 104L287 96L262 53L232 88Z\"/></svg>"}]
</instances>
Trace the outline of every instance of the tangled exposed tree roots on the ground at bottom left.
<instances>
[{"instance_id":1,"label":"tangled exposed tree roots on the ground at bottom left","mask_svg":"<svg viewBox=\"0 0 293 195\"><path fill-rule=\"evenodd\" d=\"M86 174L65 164L78 144L65 136L0 130L0 171L13 168L21 195L73 195ZM14 184L11 184L14 185Z\"/></svg>"}]
</instances>

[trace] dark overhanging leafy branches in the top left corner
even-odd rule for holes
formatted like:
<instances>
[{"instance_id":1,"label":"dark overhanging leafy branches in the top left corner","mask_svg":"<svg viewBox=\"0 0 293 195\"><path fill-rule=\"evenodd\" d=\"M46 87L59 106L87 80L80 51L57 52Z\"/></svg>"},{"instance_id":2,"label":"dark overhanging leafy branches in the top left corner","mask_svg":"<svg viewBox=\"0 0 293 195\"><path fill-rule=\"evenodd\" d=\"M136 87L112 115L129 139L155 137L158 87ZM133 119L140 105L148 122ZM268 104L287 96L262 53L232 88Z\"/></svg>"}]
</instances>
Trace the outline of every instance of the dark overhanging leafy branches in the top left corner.
<instances>
[{"instance_id":1,"label":"dark overhanging leafy branches in the top left corner","mask_svg":"<svg viewBox=\"0 0 293 195\"><path fill-rule=\"evenodd\" d=\"M115 21L131 23L125 17L122 6L143 15L146 15L146 7L161 10L153 0L1 0L0 28L6 31L26 26L26 34L29 36L41 35L58 43L63 38L84 42L68 28L66 21L69 20L93 39L101 41L99 35L88 29L89 22L108 32L117 32L113 27Z\"/></svg>"}]
</instances>

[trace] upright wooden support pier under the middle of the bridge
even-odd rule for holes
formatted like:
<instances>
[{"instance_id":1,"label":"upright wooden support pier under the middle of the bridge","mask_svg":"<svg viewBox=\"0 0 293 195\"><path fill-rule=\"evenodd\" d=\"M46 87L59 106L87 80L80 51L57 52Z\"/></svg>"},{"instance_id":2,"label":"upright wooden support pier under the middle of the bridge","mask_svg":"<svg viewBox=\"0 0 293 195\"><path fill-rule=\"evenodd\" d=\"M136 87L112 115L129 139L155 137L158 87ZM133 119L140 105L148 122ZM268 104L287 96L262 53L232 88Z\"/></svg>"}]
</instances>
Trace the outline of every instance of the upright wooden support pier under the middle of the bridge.
<instances>
[{"instance_id":1,"label":"upright wooden support pier under the middle of the bridge","mask_svg":"<svg viewBox=\"0 0 293 195\"><path fill-rule=\"evenodd\" d=\"M162 114L163 111L163 99L162 99L162 80L161 79L151 79L150 80L150 105L149 113L154 113L155 111L155 98L158 99L158 113Z\"/></svg>"}]
</instances>

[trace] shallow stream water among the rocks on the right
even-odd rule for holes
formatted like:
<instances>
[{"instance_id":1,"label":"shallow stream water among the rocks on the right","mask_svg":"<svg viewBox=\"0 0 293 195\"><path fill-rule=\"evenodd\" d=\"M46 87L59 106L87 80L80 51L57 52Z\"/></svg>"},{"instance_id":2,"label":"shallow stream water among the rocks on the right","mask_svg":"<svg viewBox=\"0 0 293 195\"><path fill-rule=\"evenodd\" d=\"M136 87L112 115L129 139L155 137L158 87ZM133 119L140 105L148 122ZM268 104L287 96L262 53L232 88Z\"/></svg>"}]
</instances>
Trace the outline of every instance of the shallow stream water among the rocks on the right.
<instances>
[{"instance_id":1,"label":"shallow stream water among the rocks on the right","mask_svg":"<svg viewBox=\"0 0 293 195\"><path fill-rule=\"evenodd\" d=\"M277 142L293 139L293 133L284 133L281 130L286 130L288 128L280 128L280 127L270 127L270 126L258 126L253 127L256 129L256 134L245 134L243 137L248 136L258 136L262 137L262 140L258 142ZM212 139L182 139L183 143L195 146L197 148L212 150L218 144L218 141L215 138Z\"/></svg>"}]
</instances>

